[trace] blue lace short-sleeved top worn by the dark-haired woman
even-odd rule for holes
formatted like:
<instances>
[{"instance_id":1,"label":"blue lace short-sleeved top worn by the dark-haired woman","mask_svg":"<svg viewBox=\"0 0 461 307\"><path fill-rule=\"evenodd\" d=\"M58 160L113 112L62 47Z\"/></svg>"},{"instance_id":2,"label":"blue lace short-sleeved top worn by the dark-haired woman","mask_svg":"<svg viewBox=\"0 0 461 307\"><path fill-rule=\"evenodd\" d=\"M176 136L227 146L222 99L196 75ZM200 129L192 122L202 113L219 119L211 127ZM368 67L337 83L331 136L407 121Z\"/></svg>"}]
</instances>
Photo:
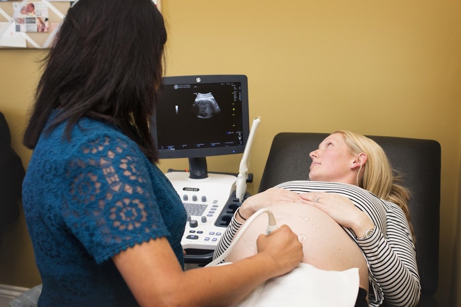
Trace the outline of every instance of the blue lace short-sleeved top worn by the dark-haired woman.
<instances>
[{"instance_id":1,"label":"blue lace short-sleeved top worn by the dark-haired woman","mask_svg":"<svg viewBox=\"0 0 461 307\"><path fill-rule=\"evenodd\" d=\"M64 128L42 133L23 182L43 282L38 306L138 306L111 257L167 237L183 267L181 199L114 126L84 118L71 140Z\"/></svg>"}]
</instances>

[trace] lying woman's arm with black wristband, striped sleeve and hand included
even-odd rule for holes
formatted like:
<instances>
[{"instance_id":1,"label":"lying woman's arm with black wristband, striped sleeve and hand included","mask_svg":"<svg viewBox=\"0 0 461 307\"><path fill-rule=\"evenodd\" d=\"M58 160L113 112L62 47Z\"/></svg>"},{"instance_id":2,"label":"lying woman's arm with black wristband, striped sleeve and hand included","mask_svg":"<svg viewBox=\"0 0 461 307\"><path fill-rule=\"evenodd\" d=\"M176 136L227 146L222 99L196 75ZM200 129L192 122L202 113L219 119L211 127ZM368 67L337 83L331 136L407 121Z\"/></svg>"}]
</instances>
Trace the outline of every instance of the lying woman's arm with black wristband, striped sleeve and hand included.
<instances>
[{"instance_id":1,"label":"lying woman's arm with black wristband, striped sleeve and hand included","mask_svg":"<svg viewBox=\"0 0 461 307\"><path fill-rule=\"evenodd\" d=\"M234 238L238 229L240 229L242 224L245 223L245 221L256 211L258 211L261 208L272 206L279 202L287 201L306 203L306 201L302 199L301 196L297 193L279 188L267 189L264 192L248 197L242 203L241 207L238 208L237 211L234 213L231 219L231 223L226 228L226 231L224 232L223 236L218 242L218 245L216 246L216 249L213 253L213 260L219 257L223 252L225 252L229 248L232 239Z\"/></svg>"}]
</instances>

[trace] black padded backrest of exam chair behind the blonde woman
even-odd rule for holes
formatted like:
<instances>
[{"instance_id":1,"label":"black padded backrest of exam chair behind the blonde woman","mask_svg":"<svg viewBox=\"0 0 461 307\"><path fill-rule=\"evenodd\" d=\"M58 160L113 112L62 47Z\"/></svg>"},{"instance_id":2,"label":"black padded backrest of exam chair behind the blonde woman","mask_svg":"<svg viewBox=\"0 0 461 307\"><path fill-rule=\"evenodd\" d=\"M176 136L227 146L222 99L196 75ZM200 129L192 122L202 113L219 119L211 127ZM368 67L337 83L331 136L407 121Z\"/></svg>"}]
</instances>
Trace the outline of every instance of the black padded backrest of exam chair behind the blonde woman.
<instances>
[{"instance_id":1,"label":"black padded backrest of exam chair behind the blonde woman","mask_svg":"<svg viewBox=\"0 0 461 307\"><path fill-rule=\"evenodd\" d=\"M309 153L328 134L279 133L269 151L259 191L290 180L309 178ZM416 236L416 260L421 278L418 307L434 307L433 295L438 284L440 144L435 140L375 137L391 165L403 176L403 185L411 192L408 202L410 221ZM384 302L381 306L386 307Z\"/></svg>"}]
</instances>

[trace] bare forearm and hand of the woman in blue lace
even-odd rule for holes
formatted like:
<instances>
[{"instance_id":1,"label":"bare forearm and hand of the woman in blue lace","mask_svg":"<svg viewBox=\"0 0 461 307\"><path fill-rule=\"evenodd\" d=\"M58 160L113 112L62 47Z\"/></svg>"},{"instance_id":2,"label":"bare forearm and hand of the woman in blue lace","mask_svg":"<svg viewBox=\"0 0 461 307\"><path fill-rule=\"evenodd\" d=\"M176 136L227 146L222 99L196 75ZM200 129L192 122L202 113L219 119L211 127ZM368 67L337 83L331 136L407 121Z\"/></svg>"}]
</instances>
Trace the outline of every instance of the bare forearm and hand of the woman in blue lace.
<instances>
[{"instance_id":1,"label":"bare forearm and hand of the woman in blue lace","mask_svg":"<svg viewBox=\"0 0 461 307\"><path fill-rule=\"evenodd\" d=\"M283 275L303 257L302 245L282 225L258 238L258 253L233 264L182 271L165 237L113 257L115 266L142 307L230 306L261 282Z\"/></svg>"}]
</instances>

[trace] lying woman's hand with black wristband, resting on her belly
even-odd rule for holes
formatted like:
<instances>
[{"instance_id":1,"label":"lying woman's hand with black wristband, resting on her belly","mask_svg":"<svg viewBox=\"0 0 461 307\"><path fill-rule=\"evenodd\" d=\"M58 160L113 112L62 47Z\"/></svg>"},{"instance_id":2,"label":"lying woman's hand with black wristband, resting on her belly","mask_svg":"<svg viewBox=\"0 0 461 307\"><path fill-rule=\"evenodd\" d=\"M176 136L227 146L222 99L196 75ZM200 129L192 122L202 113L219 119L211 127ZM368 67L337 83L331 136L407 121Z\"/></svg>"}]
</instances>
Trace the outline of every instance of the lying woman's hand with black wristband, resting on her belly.
<instances>
[{"instance_id":1,"label":"lying woman's hand with black wristband, resting on her belly","mask_svg":"<svg viewBox=\"0 0 461 307\"><path fill-rule=\"evenodd\" d=\"M287 201L307 203L306 200L301 198L301 196L299 196L299 194L297 194L296 192L291 192L286 189L270 188L264 192L255 194L245 199L245 201L242 203L242 206L238 210L238 213L242 218L248 219L261 208L267 208L276 203ZM236 218L237 217L238 215L236 216ZM240 220L238 218L238 222L244 222L243 220Z\"/></svg>"}]
</instances>

